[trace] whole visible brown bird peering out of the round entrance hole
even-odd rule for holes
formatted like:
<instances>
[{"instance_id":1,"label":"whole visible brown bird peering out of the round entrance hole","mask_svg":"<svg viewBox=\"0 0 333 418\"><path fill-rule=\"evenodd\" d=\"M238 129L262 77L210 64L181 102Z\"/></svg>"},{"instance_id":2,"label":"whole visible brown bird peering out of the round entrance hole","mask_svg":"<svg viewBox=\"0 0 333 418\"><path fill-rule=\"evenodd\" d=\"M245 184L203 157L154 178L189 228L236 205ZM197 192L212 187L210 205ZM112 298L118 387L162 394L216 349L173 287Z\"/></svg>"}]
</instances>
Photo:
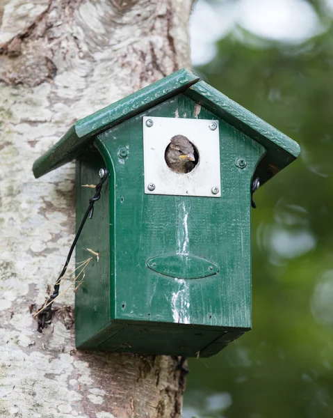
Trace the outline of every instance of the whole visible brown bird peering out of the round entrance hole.
<instances>
[{"instance_id":1,"label":"whole visible brown bird peering out of the round entrance hole","mask_svg":"<svg viewBox=\"0 0 333 418\"><path fill-rule=\"evenodd\" d=\"M165 162L176 173L189 173L195 167L195 150L184 135L175 135L165 150Z\"/></svg>"}]
</instances>

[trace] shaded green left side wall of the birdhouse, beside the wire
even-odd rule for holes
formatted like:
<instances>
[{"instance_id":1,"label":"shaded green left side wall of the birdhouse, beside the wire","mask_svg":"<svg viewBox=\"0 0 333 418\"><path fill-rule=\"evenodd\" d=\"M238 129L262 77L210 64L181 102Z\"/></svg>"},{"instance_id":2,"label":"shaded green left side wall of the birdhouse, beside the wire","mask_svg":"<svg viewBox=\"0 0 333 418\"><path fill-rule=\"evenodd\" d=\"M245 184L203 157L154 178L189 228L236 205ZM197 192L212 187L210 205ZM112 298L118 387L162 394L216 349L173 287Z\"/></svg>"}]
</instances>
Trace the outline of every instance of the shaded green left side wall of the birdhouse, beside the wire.
<instances>
[{"instance_id":1,"label":"shaded green left side wall of the birdhouse, beside the wire","mask_svg":"<svg viewBox=\"0 0 333 418\"><path fill-rule=\"evenodd\" d=\"M95 149L90 150L76 163L76 230L88 208L89 199L95 189L84 185L96 185L99 182L98 171L105 167L101 155ZM112 171L111 171L112 173ZM108 219L112 208L109 206L109 189L106 180L101 191L101 199L95 203L92 219L87 219L83 232L76 244L76 265L92 257L85 269L85 277L75 294L75 339L76 346L86 341L88 336L96 336L110 324L112 300L114 296L110 286L110 230ZM99 261L88 249L99 252ZM76 270L76 274L79 270ZM101 336L102 341L104 337Z\"/></svg>"}]
</instances>

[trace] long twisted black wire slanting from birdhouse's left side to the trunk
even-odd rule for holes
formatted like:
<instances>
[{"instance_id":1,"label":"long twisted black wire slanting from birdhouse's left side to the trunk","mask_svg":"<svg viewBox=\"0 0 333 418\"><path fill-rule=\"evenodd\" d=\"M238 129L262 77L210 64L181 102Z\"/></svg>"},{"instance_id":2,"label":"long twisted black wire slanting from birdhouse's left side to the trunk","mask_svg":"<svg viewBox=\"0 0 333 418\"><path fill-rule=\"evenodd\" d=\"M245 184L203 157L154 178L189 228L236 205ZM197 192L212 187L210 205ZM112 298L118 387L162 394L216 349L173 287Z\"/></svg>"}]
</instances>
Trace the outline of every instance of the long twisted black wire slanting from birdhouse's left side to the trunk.
<instances>
[{"instance_id":1,"label":"long twisted black wire slanting from birdhouse's left side to the trunk","mask_svg":"<svg viewBox=\"0 0 333 418\"><path fill-rule=\"evenodd\" d=\"M89 217L89 219L92 219L92 215L94 214L94 204L95 202L97 202L99 199L101 199L101 187L103 186L106 178L108 178L108 171L106 169L104 169L104 176L103 178L101 178L101 181L96 185L95 187L95 195L92 196L89 199L89 206L88 209L86 210L86 213L83 215L81 224L79 226L79 229L76 232L74 241L72 242L72 245L70 247L70 251L68 252L67 258L66 258L66 262L65 265L63 266L63 270L60 273L60 276L58 277L56 284L54 285L54 293L52 293L52 295L49 297L49 299L47 300L44 309L42 311L40 311L40 313L38 314L38 332L42 332L42 330L45 327L45 323L49 320L51 320L52 318L52 304L54 302L54 300L56 299L56 297L59 294L59 288L60 288L60 281L63 277L63 275L65 274L66 270L67 270L67 266L70 263L70 258L72 257L75 245L77 240L79 240L79 236L81 234L81 231L83 229L84 224L86 223L87 218Z\"/></svg>"}]
</instances>

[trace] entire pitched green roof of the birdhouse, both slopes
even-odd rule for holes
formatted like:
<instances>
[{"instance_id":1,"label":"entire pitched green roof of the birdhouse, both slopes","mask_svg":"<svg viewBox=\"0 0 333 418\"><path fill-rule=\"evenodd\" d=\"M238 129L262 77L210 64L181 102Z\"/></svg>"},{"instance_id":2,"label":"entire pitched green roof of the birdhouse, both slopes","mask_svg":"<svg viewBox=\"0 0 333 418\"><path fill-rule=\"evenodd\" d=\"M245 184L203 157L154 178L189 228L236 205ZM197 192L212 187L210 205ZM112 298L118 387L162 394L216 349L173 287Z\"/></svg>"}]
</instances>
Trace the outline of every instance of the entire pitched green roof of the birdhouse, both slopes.
<instances>
[{"instance_id":1,"label":"entire pitched green roof of the birdhouse, both slopes","mask_svg":"<svg viewBox=\"0 0 333 418\"><path fill-rule=\"evenodd\" d=\"M43 176L79 157L87 150L97 134L179 93L201 104L218 118L233 125L266 148L266 155L254 174L260 177L261 184L300 154L297 142L227 98L192 72L183 69L74 123L52 148L35 161L33 164L35 177Z\"/></svg>"}]
</instances>

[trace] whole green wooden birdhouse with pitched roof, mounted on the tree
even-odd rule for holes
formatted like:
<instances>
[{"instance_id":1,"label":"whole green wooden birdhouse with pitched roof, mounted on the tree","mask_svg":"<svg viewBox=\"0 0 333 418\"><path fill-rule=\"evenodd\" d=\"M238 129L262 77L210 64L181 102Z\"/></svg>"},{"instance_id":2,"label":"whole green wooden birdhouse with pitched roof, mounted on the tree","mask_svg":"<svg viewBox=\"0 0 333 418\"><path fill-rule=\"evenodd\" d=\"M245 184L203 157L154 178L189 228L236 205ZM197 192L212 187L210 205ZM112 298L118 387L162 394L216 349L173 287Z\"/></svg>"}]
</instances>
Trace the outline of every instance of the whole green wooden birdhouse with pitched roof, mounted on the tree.
<instances>
[{"instance_id":1,"label":"whole green wooden birdhouse with pitched roof, mounted on the tree","mask_svg":"<svg viewBox=\"0 0 333 418\"><path fill-rule=\"evenodd\" d=\"M295 141L180 70L74 123L34 164L76 159L81 222L108 171L76 263L76 346L209 357L251 328L252 192Z\"/></svg>"}]
</instances>

